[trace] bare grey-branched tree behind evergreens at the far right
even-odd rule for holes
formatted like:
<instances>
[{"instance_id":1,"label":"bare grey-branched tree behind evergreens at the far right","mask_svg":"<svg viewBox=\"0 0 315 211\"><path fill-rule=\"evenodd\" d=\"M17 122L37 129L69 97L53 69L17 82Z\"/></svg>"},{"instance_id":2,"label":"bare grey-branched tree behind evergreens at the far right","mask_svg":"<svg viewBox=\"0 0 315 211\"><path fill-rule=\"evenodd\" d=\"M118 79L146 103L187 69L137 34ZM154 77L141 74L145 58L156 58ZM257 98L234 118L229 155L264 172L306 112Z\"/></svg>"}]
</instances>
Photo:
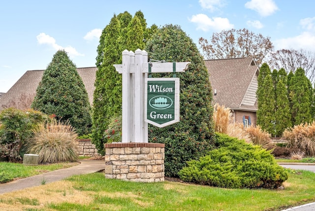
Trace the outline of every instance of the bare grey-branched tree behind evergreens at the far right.
<instances>
[{"instance_id":1,"label":"bare grey-branched tree behind evergreens at the far right","mask_svg":"<svg viewBox=\"0 0 315 211\"><path fill-rule=\"evenodd\" d=\"M282 49L270 52L266 57L266 63L271 70L284 70L289 73L302 68L312 84L315 82L315 53L307 50Z\"/></svg>"}]
</instances>

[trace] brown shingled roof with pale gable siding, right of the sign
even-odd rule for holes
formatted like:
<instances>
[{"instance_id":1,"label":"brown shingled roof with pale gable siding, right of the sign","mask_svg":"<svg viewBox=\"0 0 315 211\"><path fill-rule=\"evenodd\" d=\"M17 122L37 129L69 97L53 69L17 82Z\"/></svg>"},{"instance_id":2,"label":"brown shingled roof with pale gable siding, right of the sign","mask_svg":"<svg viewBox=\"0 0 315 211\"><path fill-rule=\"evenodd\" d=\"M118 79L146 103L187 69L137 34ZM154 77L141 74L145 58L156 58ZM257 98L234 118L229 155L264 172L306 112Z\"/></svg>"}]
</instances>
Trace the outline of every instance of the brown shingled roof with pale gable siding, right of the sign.
<instances>
[{"instance_id":1,"label":"brown shingled roof with pale gable siding, right of the sign","mask_svg":"<svg viewBox=\"0 0 315 211\"><path fill-rule=\"evenodd\" d=\"M234 110L257 110L255 90L259 68L253 57L205 60L205 64L214 103Z\"/></svg>"}]
</instances>

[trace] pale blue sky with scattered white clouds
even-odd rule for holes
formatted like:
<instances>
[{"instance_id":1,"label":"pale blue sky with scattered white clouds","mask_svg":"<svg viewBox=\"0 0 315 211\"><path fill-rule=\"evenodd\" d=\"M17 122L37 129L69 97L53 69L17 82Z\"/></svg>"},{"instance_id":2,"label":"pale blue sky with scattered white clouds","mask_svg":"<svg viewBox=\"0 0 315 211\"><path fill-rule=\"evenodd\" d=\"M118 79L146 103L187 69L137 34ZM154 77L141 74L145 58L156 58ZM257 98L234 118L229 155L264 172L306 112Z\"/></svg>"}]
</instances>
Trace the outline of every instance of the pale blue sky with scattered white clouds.
<instances>
[{"instance_id":1,"label":"pale blue sky with scattered white clouds","mask_svg":"<svg viewBox=\"0 0 315 211\"><path fill-rule=\"evenodd\" d=\"M27 70L45 70L65 49L78 68L95 67L99 35L114 14L141 10L152 24L176 24L198 38L246 28L275 50L315 49L312 0L7 0L0 3L0 92Z\"/></svg>"}]
</instances>

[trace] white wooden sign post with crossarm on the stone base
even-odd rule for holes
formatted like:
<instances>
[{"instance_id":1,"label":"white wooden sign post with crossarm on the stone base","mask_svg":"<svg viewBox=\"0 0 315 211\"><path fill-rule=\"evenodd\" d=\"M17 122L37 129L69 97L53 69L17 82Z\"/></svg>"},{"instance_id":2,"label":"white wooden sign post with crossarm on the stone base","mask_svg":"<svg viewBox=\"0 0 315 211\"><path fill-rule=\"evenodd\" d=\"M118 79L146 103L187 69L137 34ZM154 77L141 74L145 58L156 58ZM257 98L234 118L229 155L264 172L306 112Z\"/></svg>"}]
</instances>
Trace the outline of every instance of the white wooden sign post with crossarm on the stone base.
<instances>
[{"instance_id":1,"label":"white wooden sign post with crossarm on the stone base","mask_svg":"<svg viewBox=\"0 0 315 211\"><path fill-rule=\"evenodd\" d=\"M176 63L176 72L187 70L190 62ZM122 142L148 142L148 123L144 115L144 84L148 77L148 53L137 49L123 51L121 65L114 65L123 76ZM173 63L155 63L151 72L172 72Z\"/></svg>"}]
</instances>

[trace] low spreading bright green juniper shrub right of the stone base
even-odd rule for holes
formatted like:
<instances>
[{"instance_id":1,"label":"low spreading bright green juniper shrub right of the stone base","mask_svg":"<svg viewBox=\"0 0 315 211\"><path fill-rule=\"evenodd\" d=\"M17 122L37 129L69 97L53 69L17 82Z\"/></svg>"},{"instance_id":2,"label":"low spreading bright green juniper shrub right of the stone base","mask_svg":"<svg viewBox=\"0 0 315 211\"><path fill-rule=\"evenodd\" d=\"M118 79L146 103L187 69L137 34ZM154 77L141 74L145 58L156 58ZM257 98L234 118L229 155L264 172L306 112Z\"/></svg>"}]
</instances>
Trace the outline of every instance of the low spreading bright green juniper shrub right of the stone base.
<instances>
[{"instance_id":1,"label":"low spreading bright green juniper shrub right of the stone base","mask_svg":"<svg viewBox=\"0 0 315 211\"><path fill-rule=\"evenodd\" d=\"M278 188L288 178L270 151L217 134L218 149L191 160L180 172L184 181L224 188Z\"/></svg>"}]
</instances>

